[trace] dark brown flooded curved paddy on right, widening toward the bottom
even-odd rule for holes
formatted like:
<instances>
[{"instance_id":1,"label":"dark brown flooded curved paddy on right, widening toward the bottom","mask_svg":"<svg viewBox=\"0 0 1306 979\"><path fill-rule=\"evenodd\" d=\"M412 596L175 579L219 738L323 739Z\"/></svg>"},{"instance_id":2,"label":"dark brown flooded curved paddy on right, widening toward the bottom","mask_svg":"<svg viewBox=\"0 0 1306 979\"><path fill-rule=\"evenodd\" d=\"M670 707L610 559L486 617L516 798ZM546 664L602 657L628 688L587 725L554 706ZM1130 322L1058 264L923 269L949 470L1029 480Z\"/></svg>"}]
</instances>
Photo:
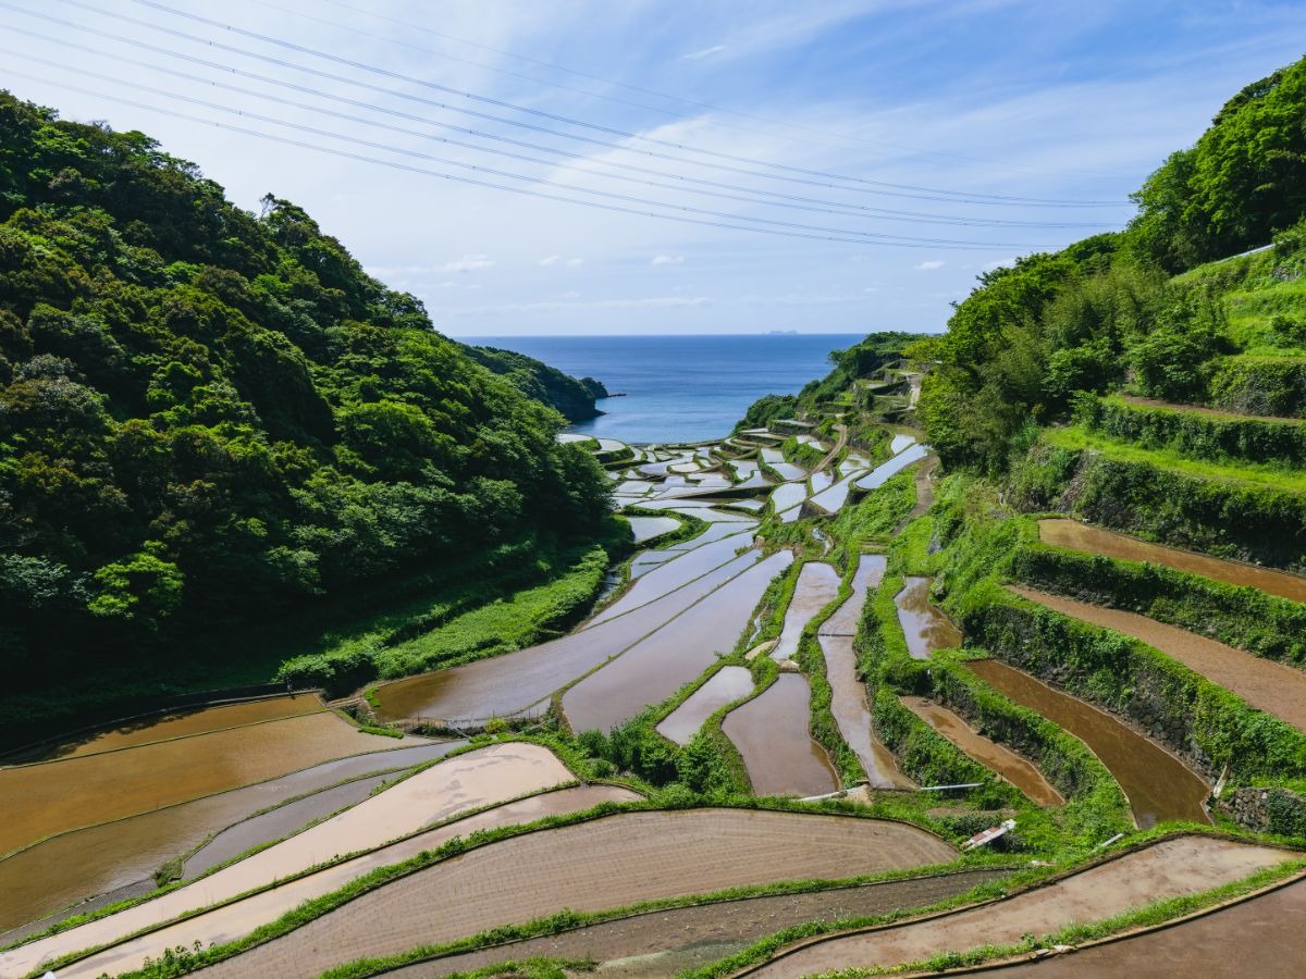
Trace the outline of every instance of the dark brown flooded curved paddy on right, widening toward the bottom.
<instances>
[{"instance_id":1,"label":"dark brown flooded curved paddy on right, widening toward the bottom","mask_svg":"<svg viewBox=\"0 0 1306 979\"><path fill-rule=\"evenodd\" d=\"M1084 741L1124 790L1140 829L1166 820L1211 822L1203 808L1211 792L1207 783L1156 741L996 659L978 659L966 667L1003 696Z\"/></svg>"}]
</instances>

